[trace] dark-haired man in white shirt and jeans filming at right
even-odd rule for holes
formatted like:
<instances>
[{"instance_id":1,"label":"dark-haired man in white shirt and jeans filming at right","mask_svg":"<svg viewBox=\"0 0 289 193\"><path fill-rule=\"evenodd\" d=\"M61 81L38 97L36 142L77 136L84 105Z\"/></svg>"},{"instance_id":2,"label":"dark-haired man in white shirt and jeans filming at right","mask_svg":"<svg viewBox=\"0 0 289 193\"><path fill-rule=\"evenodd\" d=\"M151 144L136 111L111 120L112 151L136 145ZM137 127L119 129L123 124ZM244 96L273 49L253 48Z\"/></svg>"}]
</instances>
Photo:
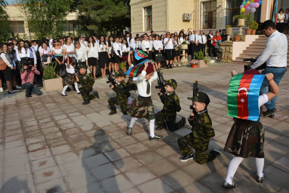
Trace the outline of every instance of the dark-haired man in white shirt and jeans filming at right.
<instances>
[{"instance_id":1,"label":"dark-haired man in white shirt and jeans filming at right","mask_svg":"<svg viewBox=\"0 0 289 193\"><path fill-rule=\"evenodd\" d=\"M269 38L266 41L262 54L257 56L257 61L254 64L250 64L250 66L252 69L255 69L266 62L266 67L261 74L273 73L273 80L278 85L286 72L288 41L286 35L276 30L276 25L271 20L264 21L260 28L263 34ZM268 82L264 80L261 86L261 94L266 94L268 91L271 91L270 87L267 91L267 87ZM274 117L274 113L277 112L275 109L276 102L277 96L264 104L267 111L262 112L263 117Z\"/></svg>"}]
</instances>

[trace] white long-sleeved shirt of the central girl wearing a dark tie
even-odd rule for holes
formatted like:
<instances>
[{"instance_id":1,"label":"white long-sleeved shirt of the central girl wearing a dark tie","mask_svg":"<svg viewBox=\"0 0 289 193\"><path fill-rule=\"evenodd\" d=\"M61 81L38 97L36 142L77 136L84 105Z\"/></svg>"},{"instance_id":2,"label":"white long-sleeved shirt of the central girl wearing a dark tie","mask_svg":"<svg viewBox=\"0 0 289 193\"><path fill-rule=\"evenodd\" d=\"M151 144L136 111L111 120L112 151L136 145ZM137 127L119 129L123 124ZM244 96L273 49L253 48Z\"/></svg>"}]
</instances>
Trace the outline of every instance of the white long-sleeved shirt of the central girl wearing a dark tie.
<instances>
[{"instance_id":1,"label":"white long-sleeved shirt of the central girl wearing a dark tie","mask_svg":"<svg viewBox=\"0 0 289 193\"><path fill-rule=\"evenodd\" d=\"M149 91L149 94L147 94L147 81L145 79L146 75L147 75L147 72L143 70L140 73L140 76L138 76L138 78L136 79L136 87L138 87L138 94L143 97L151 96L151 89ZM151 86L151 82L157 78L158 78L158 74L154 72L151 78L148 80L149 85Z\"/></svg>"}]
</instances>

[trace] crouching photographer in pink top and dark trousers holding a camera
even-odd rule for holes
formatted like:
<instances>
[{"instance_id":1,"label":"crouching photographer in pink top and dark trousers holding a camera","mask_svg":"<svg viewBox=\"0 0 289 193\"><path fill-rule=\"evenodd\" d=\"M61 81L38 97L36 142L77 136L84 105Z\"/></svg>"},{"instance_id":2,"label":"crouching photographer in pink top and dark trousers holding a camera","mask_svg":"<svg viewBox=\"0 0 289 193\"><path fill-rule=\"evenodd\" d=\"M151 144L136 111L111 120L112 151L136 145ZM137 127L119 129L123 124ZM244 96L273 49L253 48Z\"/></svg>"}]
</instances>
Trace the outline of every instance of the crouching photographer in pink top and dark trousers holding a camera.
<instances>
[{"instance_id":1,"label":"crouching photographer in pink top and dark trousers holding a camera","mask_svg":"<svg viewBox=\"0 0 289 193\"><path fill-rule=\"evenodd\" d=\"M22 80L22 88L26 89L26 97L30 98L31 93L34 93L36 95L42 95L42 92L37 88L34 87L33 81L34 81L34 73L37 75L40 74L40 72L36 69L36 67L32 66L30 63L26 63L22 65L21 68L21 80Z\"/></svg>"}]
</instances>

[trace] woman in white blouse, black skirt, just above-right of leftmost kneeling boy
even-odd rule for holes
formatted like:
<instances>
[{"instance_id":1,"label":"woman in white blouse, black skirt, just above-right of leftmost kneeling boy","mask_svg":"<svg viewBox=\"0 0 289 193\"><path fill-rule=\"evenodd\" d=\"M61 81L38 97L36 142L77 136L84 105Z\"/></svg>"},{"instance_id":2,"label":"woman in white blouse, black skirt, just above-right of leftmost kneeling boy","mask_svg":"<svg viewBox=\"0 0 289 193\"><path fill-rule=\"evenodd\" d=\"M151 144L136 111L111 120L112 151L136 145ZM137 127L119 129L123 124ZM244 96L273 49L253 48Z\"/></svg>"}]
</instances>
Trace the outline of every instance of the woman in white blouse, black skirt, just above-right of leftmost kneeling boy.
<instances>
[{"instance_id":1,"label":"woman in white blouse, black skirt, just above-right of leftmost kneeling boy","mask_svg":"<svg viewBox=\"0 0 289 193\"><path fill-rule=\"evenodd\" d=\"M93 78L96 79L96 65L98 60L98 49L97 49L97 43L95 43L95 40L93 36L88 37L88 44L87 44L87 60L88 65L90 68L90 71L93 72Z\"/></svg>"}]
</instances>

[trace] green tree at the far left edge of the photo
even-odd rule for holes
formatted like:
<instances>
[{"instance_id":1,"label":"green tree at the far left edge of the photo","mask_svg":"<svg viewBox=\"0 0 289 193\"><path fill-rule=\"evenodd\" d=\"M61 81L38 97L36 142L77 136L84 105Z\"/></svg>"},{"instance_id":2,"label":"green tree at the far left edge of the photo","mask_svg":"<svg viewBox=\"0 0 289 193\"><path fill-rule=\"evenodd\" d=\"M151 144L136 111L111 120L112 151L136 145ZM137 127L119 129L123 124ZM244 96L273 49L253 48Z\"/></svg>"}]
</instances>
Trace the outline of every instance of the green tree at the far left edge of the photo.
<instances>
[{"instance_id":1,"label":"green tree at the far left edge of the photo","mask_svg":"<svg viewBox=\"0 0 289 193\"><path fill-rule=\"evenodd\" d=\"M6 1L0 0L0 42L7 42L7 39L14 36L8 20L9 16L5 10L6 5Z\"/></svg>"}]
</instances>

